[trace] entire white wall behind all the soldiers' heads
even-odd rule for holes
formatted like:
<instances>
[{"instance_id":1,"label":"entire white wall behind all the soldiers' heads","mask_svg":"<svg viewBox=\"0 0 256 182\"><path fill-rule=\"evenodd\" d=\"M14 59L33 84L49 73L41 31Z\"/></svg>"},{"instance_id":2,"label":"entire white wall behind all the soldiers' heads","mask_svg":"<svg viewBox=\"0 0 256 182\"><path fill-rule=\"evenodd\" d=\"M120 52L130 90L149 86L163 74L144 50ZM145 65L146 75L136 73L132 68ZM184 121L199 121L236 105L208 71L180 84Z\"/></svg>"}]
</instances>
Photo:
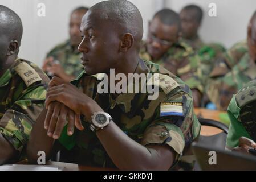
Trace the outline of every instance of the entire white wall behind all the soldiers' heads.
<instances>
[{"instance_id":1,"label":"entire white wall behind all the soldiers' heads","mask_svg":"<svg viewBox=\"0 0 256 182\"><path fill-rule=\"evenodd\" d=\"M37 5L46 5L46 17L37 15ZM75 7L92 6L100 0L0 0L1 5L13 9L23 22L23 38L20 57L42 65L48 51L68 38L69 16ZM204 9L205 18L200 35L206 42L222 42L225 46L246 38L247 22L256 10L255 0L131 0L141 11L144 38L148 20L165 4L180 11L188 3L196 3ZM217 17L208 16L210 2L217 4Z\"/></svg>"}]
</instances>

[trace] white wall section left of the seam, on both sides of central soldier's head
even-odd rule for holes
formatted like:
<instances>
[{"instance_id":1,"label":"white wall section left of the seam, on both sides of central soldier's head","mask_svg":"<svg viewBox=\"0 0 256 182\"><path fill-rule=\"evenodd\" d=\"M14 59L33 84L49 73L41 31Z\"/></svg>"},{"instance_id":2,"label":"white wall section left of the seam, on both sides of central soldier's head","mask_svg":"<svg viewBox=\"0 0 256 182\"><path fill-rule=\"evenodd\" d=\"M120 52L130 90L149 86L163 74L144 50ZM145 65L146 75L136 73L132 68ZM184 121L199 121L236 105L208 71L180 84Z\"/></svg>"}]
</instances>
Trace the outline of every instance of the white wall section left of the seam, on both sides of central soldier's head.
<instances>
[{"instance_id":1,"label":"white wall section left of the seam, on both sides of central soldier's head","mask_svg":"<svg viewBox=\"0 0 256 182\"><path fill-rule=\"evenodd\" d=\"M37 15L38 3L46 5L46 17ZM78 6L92 6L100 0L0 0L22 19L23 38L19 57L42 65L46 53L56 44L68 39L70 13ZM162 8L161 0L131 0L140 10L147 32L148 20ZM144 33L144 37L145 37Z\"/></svg>"}]
</instances>

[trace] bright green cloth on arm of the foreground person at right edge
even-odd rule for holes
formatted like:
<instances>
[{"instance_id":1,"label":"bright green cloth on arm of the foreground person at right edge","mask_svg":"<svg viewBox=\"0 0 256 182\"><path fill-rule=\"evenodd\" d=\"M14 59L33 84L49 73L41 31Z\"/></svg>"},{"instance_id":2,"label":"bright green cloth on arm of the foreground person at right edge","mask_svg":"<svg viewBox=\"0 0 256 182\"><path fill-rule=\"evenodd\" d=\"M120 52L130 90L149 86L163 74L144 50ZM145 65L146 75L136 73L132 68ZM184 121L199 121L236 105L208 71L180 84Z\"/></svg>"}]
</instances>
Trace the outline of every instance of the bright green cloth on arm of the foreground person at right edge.
<instances>
[{"instance_id":1,"label":"bright green cloth on arm of the foreground person at right edge","mask_svg":"<svg viewBox=\"0 0 256 182\"><path fill-rule=\"evenodd\" d=\"M229 133L227 134L226 147L232 149L238 146L240 137L247 137L250 139L251 137L245 130L245 127L243 127L241 121L239 121L240 108L235 101L235 96L233 96L229 104L227 114L229 114L230 125Z\"/></svg>"}]
</instances>

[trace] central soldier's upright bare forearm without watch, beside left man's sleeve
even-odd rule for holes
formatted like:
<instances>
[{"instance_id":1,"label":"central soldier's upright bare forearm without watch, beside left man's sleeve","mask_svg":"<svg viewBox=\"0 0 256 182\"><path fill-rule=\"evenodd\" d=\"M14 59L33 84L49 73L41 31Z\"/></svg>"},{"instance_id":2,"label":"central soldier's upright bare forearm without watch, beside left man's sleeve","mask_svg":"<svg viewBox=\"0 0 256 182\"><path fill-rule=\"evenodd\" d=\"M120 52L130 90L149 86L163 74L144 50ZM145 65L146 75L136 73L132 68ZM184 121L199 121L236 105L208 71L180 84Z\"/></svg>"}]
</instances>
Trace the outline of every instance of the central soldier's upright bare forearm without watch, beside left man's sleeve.
<instances>
[{"instance_id":1,"label":"central soldier's upright bare forearm without watch, beside left man's sleeve","mask_svg":"<svg viewBox=\"0 0 256 182\"><path fill-rule=\"evenodd\" d=\"M30 163L36 163L38 159L38 151L44 151L46 159L50 159L52 147L54 145L54 139L48 137L47 130L44 129L44 119L46 117L47 110L43 109L39 115L30 133L30 139L27 143L27 157Z\"/></svg>"}]
</instances>

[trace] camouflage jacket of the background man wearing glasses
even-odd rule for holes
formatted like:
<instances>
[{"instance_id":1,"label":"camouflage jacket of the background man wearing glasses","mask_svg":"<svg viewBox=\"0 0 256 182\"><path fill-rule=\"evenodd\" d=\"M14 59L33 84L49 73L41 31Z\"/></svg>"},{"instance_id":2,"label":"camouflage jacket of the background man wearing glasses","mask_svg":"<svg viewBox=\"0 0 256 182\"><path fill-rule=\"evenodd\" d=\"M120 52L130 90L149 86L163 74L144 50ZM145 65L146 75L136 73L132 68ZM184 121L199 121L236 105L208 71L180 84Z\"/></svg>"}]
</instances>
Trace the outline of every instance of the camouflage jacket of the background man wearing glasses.
<instances>
[{"instance_id":1,"label":"camouflage jacket of the background man wearing glasses","mask_svg":"<svg viewBox=\"0 0 256 182\"><path fill-rule=\"evenodd\" d=\"M144 60L152 60L147 52L145 43L141 47L140 57ZM161 65L174 75L180 77L190 89L198 89L201 93L203 92L200 57L183 39L179 39L178 43L170 47L154 63Z\"/></svg>"}]
</instances>

